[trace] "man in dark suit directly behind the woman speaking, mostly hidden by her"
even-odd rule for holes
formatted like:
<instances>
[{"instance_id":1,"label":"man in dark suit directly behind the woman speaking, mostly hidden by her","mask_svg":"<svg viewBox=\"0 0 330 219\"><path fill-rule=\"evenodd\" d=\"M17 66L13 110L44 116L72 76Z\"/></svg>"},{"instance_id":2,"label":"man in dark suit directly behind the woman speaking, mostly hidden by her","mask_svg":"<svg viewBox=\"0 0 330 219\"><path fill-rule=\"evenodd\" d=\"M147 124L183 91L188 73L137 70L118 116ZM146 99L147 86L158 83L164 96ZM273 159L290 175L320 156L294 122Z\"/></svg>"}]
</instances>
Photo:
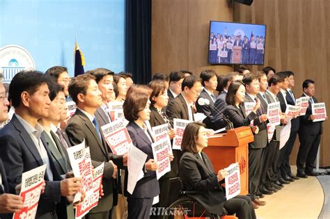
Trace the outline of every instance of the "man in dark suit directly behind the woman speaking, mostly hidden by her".
<instances>
[{"instance_id":1,"label":"man in dark suit directly behind the woman speaking, mostly hidden by her","mask_svg":"<svg viewBox=\"0 0 330 219\"><path fill-rule=\"evenodd\" d=\"M237 72L230 72L223 79L221 79L221 93L218 95L217 99L214 102L214 107L217 108L217 111L212 111L214 129L222 129L226 127L226 123L223 120L222 113L225 110L226 104L226 95L230 83L237 81L239 74Z\"/></svg>"}]
</instances>

